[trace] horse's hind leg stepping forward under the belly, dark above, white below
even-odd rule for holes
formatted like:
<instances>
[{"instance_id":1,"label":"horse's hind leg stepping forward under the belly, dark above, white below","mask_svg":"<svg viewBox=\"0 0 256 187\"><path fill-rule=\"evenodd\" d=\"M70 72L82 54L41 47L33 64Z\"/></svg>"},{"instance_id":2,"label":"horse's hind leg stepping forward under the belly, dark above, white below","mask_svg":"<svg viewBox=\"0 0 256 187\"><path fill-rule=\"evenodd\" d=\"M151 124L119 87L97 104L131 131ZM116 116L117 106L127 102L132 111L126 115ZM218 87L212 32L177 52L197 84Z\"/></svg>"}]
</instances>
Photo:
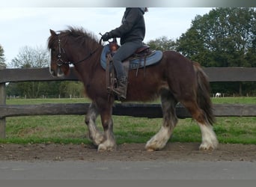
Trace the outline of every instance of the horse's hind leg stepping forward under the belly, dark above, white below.
<instances>
[{"instance_id":1,"label":"horse's hind leg stepping forward under the belly, dark above, white below","mask_svg":"<svg viewBox=\"0 0 256 187\"><path fill-rule=\"evenodd\" d=\"M162 102L162 115L163 123L159 132L156 133L146 144L146 150L161 150L165 147L168 139L177 124L177 115L175 111L175 105L177 100L168 90L161 91L161 102Z\"/></svg>"}]
</instances>

